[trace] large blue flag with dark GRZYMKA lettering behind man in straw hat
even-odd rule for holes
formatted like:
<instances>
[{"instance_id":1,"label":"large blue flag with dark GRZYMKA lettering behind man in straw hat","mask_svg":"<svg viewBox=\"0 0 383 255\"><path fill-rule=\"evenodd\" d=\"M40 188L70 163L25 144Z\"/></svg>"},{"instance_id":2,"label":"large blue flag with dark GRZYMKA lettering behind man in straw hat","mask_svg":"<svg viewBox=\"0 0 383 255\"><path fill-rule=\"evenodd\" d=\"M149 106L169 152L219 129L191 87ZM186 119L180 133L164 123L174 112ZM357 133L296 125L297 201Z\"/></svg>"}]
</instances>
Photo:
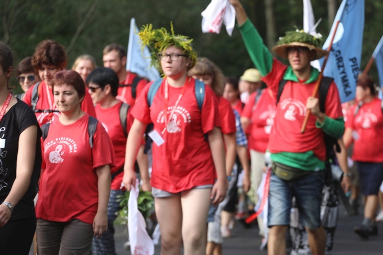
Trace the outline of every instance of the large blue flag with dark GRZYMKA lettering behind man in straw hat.
<instances>
[{"instance_id":1,"label":"large blue flag with dark GRZYMKA lettering behind man in straw hat","mask_svg":"<svg viewBox=\"0 0 383 255\"><path fill-rule=\"evenodd\" d=\"M355 88L361 68L363 29L365 23L364 0L343 0L332 24L330 34L323 45L327 50L330 40L340 20L332 42L323 75L332 77L338 86L342 103L355 98ZM322 58L321 66L324 61Z\"/></svg>"}]
</instances>

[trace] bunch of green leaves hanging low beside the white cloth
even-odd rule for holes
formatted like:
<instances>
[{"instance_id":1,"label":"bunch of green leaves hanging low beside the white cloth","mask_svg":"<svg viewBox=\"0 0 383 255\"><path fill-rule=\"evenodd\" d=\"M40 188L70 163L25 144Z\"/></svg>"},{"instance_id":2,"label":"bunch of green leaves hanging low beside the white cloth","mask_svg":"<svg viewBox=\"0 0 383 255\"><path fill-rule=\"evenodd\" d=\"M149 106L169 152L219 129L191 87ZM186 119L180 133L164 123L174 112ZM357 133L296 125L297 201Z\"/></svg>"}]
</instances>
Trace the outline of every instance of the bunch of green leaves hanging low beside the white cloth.
<instances>
[{"instance_id":1,"label":"bunch of green leaves hanging low beside the white cloth","mask_svg":"<svg viewBox=\"0 0 383 255\"><path fill-rule=\"evenodd\" d=\"M121 210L119 210L118 212L118 216L122 218L122 225L128 223L129 194L130 192L126 191L124 195L117 196L117 201L119 201L119 206L121 207ZM152 195L152 192L139 190L137 197L137 206L143 218L149 218L154 209L154 197Z\"/></svg>"}]
</instances>

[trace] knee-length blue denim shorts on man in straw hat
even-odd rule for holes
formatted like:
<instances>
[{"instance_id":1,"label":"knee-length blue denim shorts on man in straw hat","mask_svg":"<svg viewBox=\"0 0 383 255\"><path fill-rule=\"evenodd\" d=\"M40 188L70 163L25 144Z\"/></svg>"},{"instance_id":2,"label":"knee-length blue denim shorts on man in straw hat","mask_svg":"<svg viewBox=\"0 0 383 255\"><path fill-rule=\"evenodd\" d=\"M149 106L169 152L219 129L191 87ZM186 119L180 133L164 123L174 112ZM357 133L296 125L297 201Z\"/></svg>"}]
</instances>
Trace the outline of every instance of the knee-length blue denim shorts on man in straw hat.
<instances>
[{"instance_id":1,"label":"knee-length blue denim shorts on man in straw hat","mask_svg":"<svg viewBox=\"0 0 383 255\"><path fill-rule=\"evenodd\" d=\"M324 171L317 171L294 181L284 181L271 173L268 225L290 225L292 198L296 197L299 216L310 230L321 226L321 200Z\"/></svg>"}]
</instances>

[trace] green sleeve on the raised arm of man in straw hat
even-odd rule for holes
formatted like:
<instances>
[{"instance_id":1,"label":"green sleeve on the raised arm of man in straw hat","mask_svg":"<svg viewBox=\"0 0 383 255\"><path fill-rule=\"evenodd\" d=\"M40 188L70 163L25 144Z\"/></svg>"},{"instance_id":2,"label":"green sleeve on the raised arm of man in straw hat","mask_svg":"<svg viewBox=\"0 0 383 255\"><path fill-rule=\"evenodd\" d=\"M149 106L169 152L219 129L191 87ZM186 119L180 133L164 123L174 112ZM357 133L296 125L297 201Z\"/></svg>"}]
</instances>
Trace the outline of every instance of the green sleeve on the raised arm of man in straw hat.
<instances>
[{"instance_id":1,"label":"green sleeve on the raised arm of man in straw hat","mask_svg":"<svg viewBox=\"0 0 383 255\"><path fill-rule=\"evenodd\" d=\"M260 71L262 76L266 76L273 66L273 56L269 49L249 19L238 28L240 29L247 52L255 67Z\"/></svg>"}]
</instances>

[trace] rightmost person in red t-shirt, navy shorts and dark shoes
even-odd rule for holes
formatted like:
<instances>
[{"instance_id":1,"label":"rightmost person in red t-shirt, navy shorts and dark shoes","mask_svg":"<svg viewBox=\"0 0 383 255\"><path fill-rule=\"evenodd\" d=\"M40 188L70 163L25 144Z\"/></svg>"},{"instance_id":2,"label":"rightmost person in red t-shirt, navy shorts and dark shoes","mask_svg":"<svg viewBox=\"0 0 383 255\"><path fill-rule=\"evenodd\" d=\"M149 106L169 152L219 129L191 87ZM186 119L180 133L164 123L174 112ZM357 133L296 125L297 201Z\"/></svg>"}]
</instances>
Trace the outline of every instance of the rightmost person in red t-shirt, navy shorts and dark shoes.
<instances>
[{"instance_id":1,"label":"rightmost person in red t-shirt, navy shorts and dark shoes","mask_svg":"<svg viewBox=\"0 0 383 255\"><path fill-rule=\"evenodd\" d=\"M383 181L383 114L381 100L375 96L375 83L370 77L358 78L356 101L349 111L343 141L354 140L352 159L356 162L362 193L366 196L364 220L354 232L363 238L377 235L375 214L379 186Z\"/></svg>"}]
</instances>

